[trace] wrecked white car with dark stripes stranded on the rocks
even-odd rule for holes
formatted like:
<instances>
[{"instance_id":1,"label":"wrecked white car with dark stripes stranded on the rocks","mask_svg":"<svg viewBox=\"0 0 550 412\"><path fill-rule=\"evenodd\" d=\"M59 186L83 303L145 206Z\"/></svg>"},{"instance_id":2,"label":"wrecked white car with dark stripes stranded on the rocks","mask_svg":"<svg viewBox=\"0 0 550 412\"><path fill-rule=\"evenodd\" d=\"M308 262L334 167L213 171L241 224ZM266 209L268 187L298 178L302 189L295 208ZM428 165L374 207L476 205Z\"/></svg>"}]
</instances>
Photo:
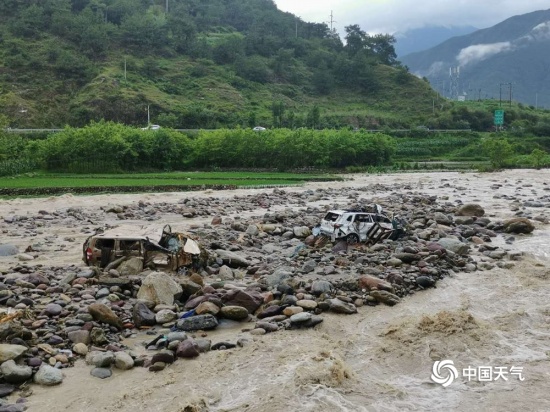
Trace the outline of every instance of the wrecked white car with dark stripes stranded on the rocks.
<instances>
[{"instance_id":1,"label":"wrecked white car with dark stripes stranded on the rocks","mask_svg":"<svg viewBox=\"0 0 550 412\"><path fill-rule=\"evenodd\" d=\"M348 243L374 244L384 239L395 240L406 230L406 223L398 216L386 214L380 205L352 210L330 210L314 230L334 242L344 239Z\"/></svg>"}]
</instances>

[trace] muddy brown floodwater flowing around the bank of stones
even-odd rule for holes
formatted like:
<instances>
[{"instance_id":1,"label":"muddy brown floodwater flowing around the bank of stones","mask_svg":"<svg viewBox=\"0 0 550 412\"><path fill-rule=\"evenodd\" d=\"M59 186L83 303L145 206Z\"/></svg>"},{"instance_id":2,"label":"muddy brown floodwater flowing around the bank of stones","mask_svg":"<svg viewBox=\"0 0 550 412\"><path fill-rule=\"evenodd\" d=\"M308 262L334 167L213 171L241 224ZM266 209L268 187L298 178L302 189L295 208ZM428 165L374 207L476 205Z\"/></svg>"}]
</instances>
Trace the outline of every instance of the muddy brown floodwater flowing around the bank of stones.
<instances>
[{"instance_id":1,"label":"muddy brown floodwater flowing around the bank of stones","mask_svg":"<svg viewBox=\"0 0 550 412\"><path fill-rule=\"evenodd\" d=\"M438 282L436 289L407 296L393 307L365 306L354 315L324 313L324 322L315 329L248 335L251 343L243 348L178 360L158 373L146 368L114 370L111 378L101 380L78 361L63 370L61 385L32 385L29 410L549 411L550 227L545 222L550 218L550 171L352 175L344 182L285 190L345 186L369 198L389 195L391 191L378 185L394 183L406 184L412 193L435 195L440 202L479 203L491 219L522 211L538 217L536 230L511 242L501 236L494 240L504 249L524 252L511 269L456 273ZM94 210L140 200L176 203L183 197L228 198L272 190L14 199L0 201L0 217L41 209ZM257 211L258 216L264 213ZM163 223L185 230L210 220L168 215ZM86 233L60 225L41 236L55 238L58 250L30 264L82 264ZM29 239L13 238L9 243L22 250ZM0 269L15 264L14 258L0 258ZM221 328L208 336L236 340L246 335L241 328ZM127 344L142 350L139 339ZM446 387L431 379L434 362L442 360L452 361L458 372ZM450 372L443 368L439 374Z\"/></svg>"}]
</instances>

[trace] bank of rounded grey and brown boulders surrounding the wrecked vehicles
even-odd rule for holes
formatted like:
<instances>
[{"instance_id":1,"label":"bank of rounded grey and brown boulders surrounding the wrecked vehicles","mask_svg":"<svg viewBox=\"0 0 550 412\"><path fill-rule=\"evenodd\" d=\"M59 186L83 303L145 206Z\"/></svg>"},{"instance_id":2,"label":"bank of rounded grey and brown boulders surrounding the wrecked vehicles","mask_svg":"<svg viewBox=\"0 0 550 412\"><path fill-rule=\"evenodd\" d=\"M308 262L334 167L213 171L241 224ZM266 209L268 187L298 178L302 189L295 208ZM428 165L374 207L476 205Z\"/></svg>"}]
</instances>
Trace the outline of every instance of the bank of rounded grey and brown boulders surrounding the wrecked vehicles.
<instances>
[{"instance_id":1,"label":"bank of rounded grey and brown boulders surrounding the wrecked vehicles","mask_svg":"<svg viewBox=\"0 0 550 412\"><path fill-rule=\"evenodd\" d=\"M27 380L59 384L62 370L82 356L93 376L108 379L112 368L160 371L176 358L238 350L237 342L212 344L204 339L207 331L224 322L239 322L253 339L322 327L323 312L359 316L358 307L393 306L456 272L513 265L521 254L494 246L493 240L504 236L513 244L510 234L531 233L536 222L546 218L535 219L518 206L521 216L503 222L487 217L491 211L479 205L446 202L406 187L377 189L386 195L365 199L362 193L368 190L362 188L302 193L275 189L231 199L136 202L96 211L69 208L4 218L1 229L7 237L33 237L54 225L90 234L96 225L112 221L113 214L121 222L159 223L166 214L200 216L208 223L193 226L191 232L209 250L210 260L196 273L152 272L139 264L131 265L132 270L125 266L104 271L77 262L52 266L25 260L3 270L0 307L6 314L0 318L0 393L11 393L13 385ZM342 196L349 202L330 202ZM310 204L310 198L327 201L321 206ZM541 202L548 204L547 199ZM408 222L400 239L339 247L309 239L327 210L372 203ZM259 208L263 213L257 213ZM256 214L241 217L245 211ZM228 217L230 213L235 216ZM69 248L80 244L74 239L46 240L29 244L27 254L36 259ZM125 343L136 336L148 340L145 355Z\"/></svg>"}]
</instances>

